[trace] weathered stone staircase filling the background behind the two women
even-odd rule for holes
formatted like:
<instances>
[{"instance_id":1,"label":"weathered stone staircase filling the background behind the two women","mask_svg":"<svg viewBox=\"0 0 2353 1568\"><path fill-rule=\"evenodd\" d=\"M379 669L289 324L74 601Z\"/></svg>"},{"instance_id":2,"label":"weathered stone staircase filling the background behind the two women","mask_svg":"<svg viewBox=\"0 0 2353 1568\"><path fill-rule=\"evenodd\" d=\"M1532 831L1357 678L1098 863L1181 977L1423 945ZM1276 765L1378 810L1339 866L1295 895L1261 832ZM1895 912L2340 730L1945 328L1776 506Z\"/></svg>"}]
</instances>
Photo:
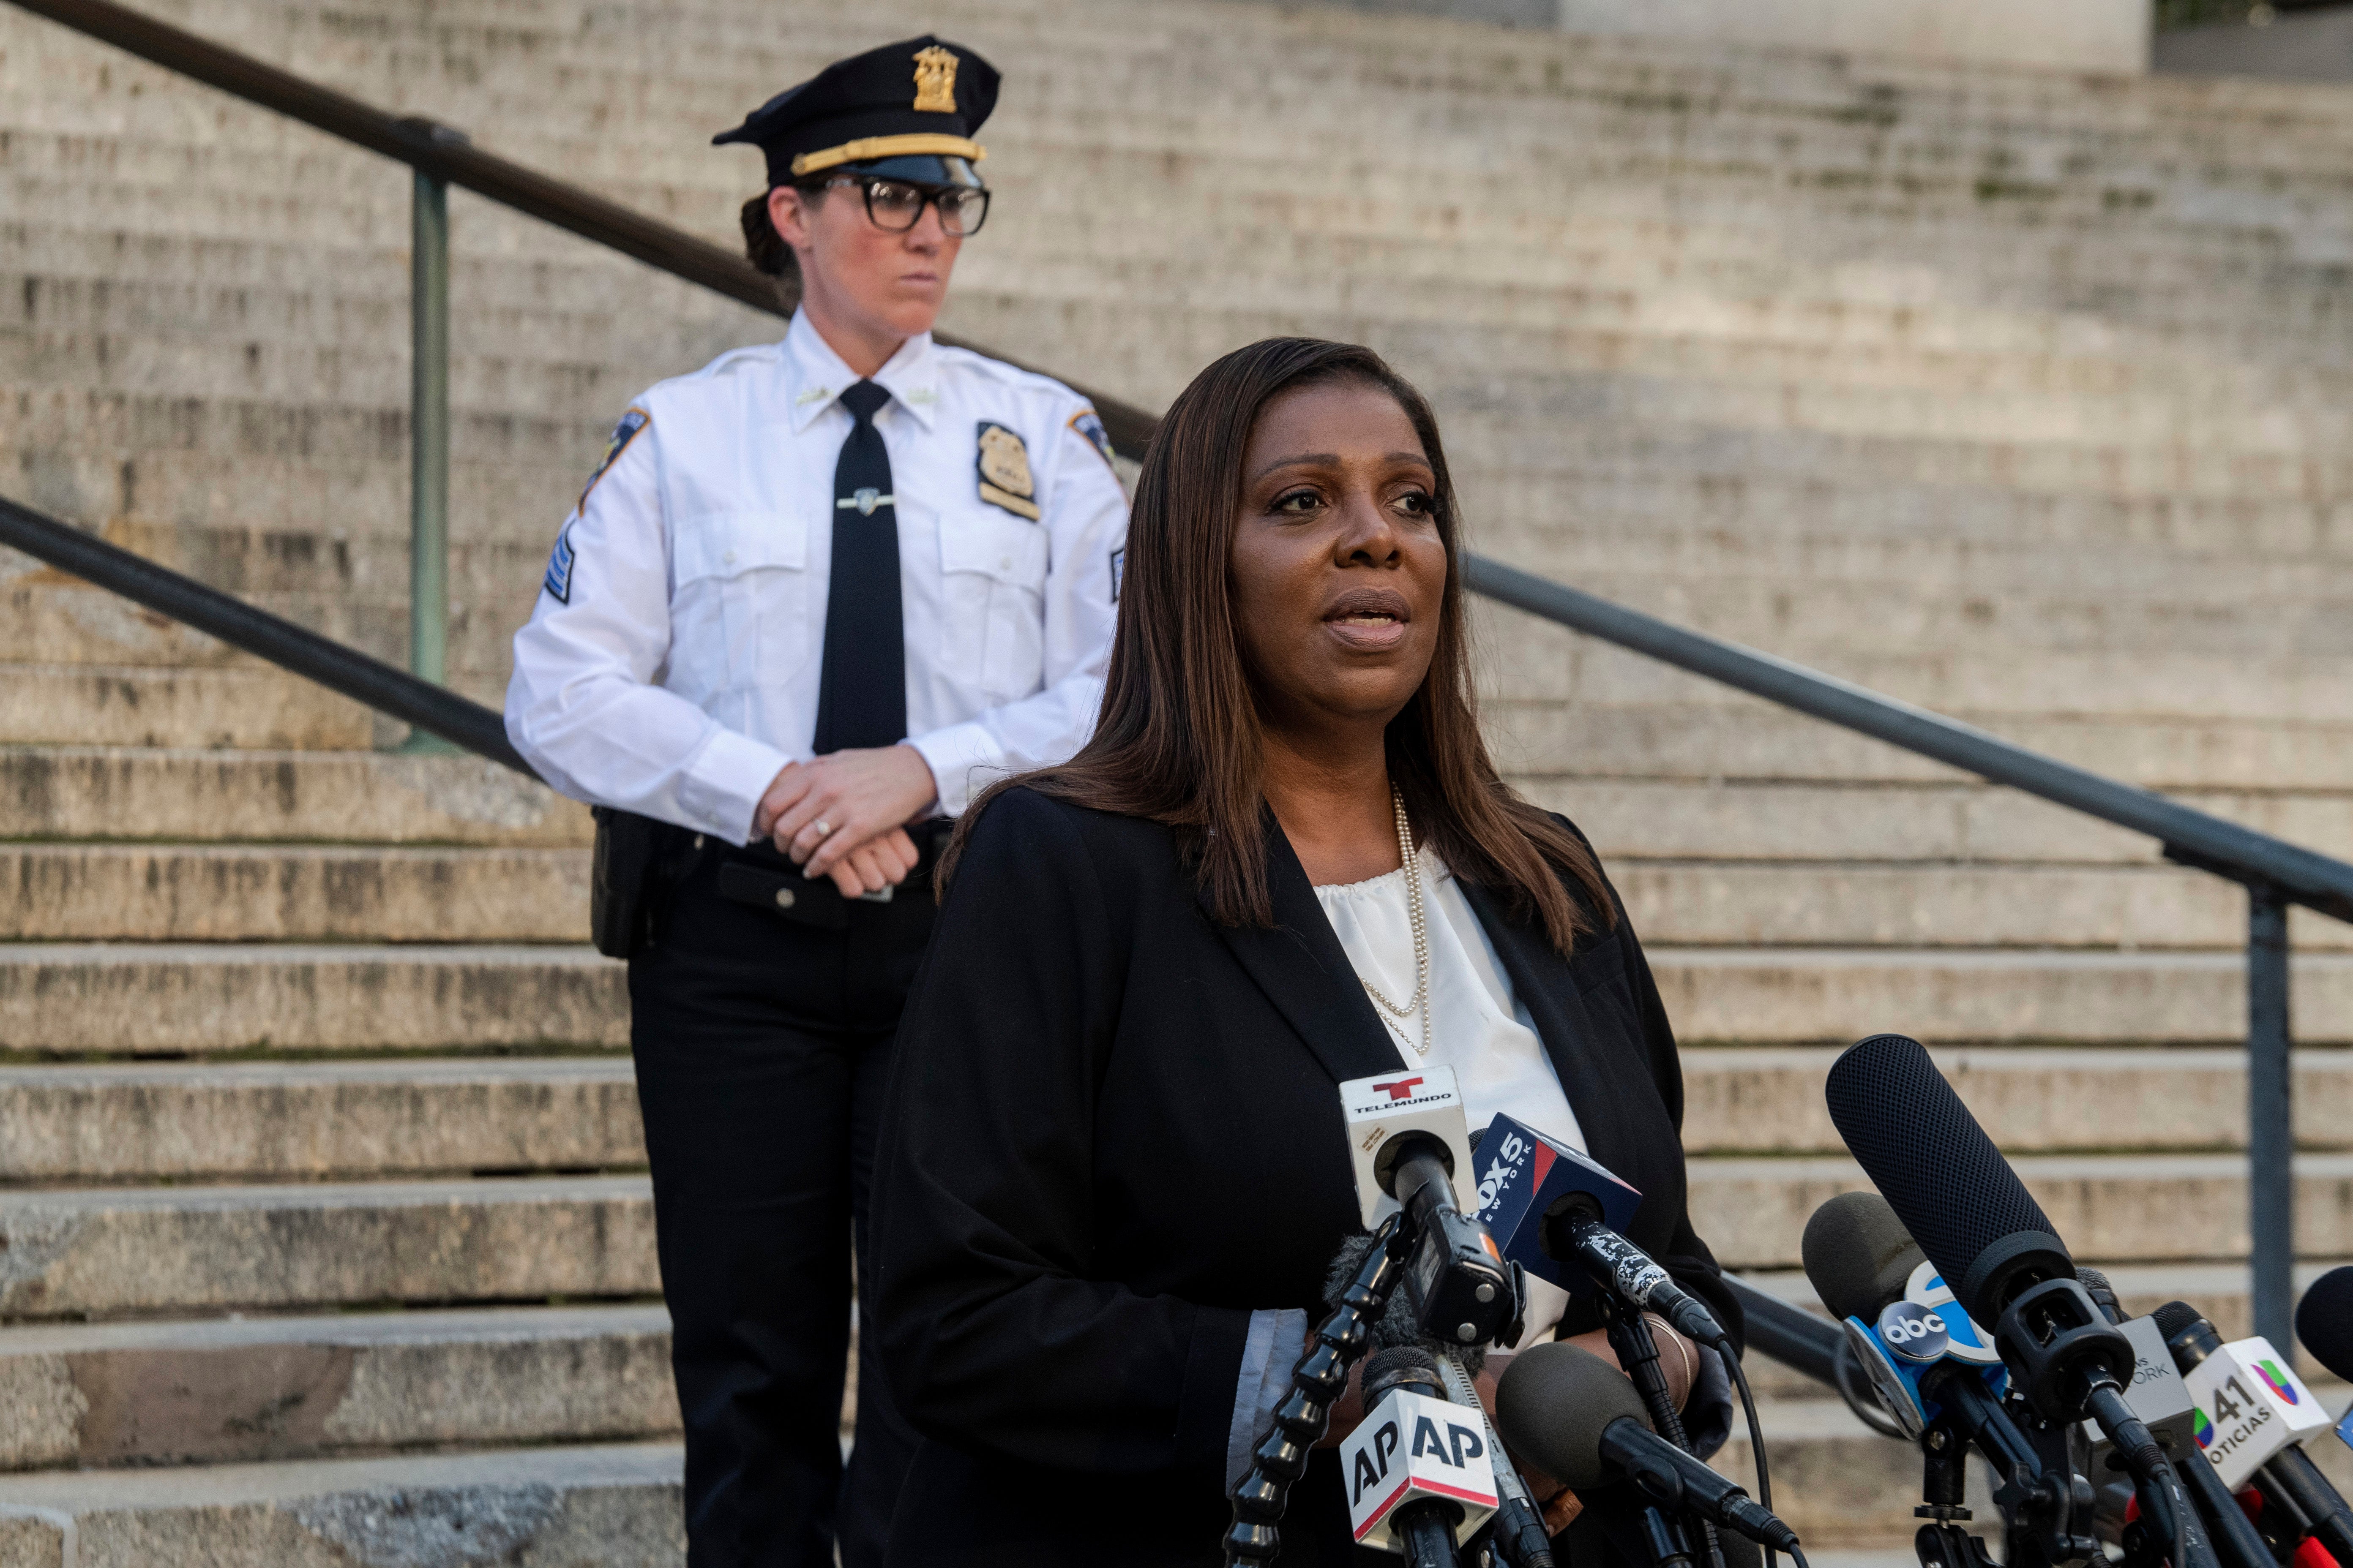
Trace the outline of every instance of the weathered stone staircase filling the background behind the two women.
<instances>
[{"instance_id":1,"label":"weathered stone staircase filling the background behind the two women","mask_svg":"<svg viewBox=\"0 0 2353 1568\"><path fill-rule=\"evenodd\" d=\"M1212 0L153 9L720 242L758 167L713 129L936 28L1007 71L953 329L1141 404L1268 331L1377 343L1492 555L2353 856L2334 89ZM0 7L0 494L398 661L407 174ZM452 214L449 663L494 703L616 409L776 324ZM678 1561L584 813L28 562L0 592L0 1563ZM1821 1074L1897 1027L2127 1298L2245 1331L2240 893L1508 611L1482 656L1652 945L1729 1265L1807 1295L1859 1185ZM2294 936L2322 1267L2353 929ZM1906 1450L1760 1385L1786 1516L1901 1547Z\"/></svg>"}]
</instances>

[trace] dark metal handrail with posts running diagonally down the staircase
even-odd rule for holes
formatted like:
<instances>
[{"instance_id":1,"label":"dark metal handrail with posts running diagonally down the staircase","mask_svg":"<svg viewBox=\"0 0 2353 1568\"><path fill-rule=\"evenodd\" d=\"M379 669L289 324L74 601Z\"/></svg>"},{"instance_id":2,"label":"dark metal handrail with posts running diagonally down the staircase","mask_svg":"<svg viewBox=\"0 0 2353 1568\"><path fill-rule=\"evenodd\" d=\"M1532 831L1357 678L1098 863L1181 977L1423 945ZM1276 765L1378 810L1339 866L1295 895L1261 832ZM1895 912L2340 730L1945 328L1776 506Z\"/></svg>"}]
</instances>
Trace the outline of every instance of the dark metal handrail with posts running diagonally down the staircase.
<instances>
[{"instance_id":1,"label":"dark metal handrail with posts running diagonally down the staircase","mask_svg":"<svg viewBox=\"0 0 2353 1568\"><path fill-rule=\"evenodd\" d=\"M409 165L416 172L419 200L419 256L414 259L419 270L419 360L431 353L428 343L445 343L447 334L447 275L445 270L438 275L435 294L433 266L424 256L426 235L440 235L438 244L445 244L447 228L433 221L433 202L445 186L461 186L515 212L555 223L584 240L715 289L755 310L788 315L793 308L793 301L779 289L776 280L732 252L522 165L482 153L461 132L449 127L431 120L395 118L113 0L14 0L14 5ZM445 254L440 263L445 266ZM428 313L438 313L438 320L426 322ZM958 343L958 339L946 334L941 334L941 341ZM426 407L424 388L433 381L426 371L428 367L421 364L419 409ZM1092 397L1113 447L1122 456L1141 458L1158 418L1122 400L1085 393L1085 388L1078 390ZM416 423L414 411L412 423ZM447 470L445 430L419 430L414 440L414 529L419 541L433 534L438 541L435 548L440 548L445 541L438 529L445 520L433 515L433 491L445 482ZM68 538L59 538L56 534ZM529 771L506 743L504 724L499 724L494 712L440 691L431 682L402 675L391 665L5 501L0 501L0 541L115 588L167 616L184 618L233 646L271 658L296 675L318 679L355 701L445 736L456 745ZM428 567L435 567L435 562L428 562L426 550L419 548L414 562L414 581L419 585L442 581ZM2101 778L2057 757L2031 752L1925 708L1899 703L1755 649L1678 628L1657 616L1645 616L1480 555L1464 557L1464 581L1473 592L1544 616L1546 621L1751 691L1772 703L1885 741L1887 745L1932 757L1991 783L2024 790L2085 816L2115 823L2118 827L2146 832L2158 839L2167 858L2242 882L2249 898L2247 1143L2254 1211L2254 1321L2273 1342L2285 1345L2289 1340L2294 1185L2285 922L2287 905L2306 905L2353 922L2353 865L2240 827L2151 790ZM440 614L445 604L424 604L424 592L412 592L412 644L421 644L431 630L435 646L428 658L419 661L419 668L438 672ZM414 646L412 658L416 658Z\"/></svg>"}]
</instances>

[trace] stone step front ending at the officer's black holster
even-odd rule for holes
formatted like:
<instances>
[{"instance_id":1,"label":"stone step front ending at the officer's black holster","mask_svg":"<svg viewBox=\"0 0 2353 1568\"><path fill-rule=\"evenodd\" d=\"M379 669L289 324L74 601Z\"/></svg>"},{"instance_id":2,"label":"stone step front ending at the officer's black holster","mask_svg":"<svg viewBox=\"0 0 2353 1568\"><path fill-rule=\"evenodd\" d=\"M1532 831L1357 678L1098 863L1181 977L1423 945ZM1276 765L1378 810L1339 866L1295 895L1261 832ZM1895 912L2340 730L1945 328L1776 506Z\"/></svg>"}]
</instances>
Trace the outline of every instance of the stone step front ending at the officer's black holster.
<instances>
[{"instance_id":1,"label":"stone step front ending at the officer's black holster","mask_svg":"<svg viewBox=\"0 0 2353 1568\"><path fill-rule=\"evenodd\" d=\"M586 849L0 846L0 940L586 938Z\"/></svg>"}]
</instances>

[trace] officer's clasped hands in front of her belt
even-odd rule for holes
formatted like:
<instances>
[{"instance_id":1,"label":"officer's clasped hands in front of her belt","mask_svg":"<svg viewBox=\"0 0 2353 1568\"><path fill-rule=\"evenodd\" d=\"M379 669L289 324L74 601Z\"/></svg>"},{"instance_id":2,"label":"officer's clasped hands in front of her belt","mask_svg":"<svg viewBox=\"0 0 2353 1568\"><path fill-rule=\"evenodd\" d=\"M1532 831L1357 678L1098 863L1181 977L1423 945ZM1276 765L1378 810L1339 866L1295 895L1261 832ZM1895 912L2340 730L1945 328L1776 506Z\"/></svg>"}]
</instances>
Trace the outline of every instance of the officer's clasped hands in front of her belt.
<instances>
[{"instance_id":1,"label":"officer's clasped hands in front of her belt","mask_svg":"<svg viewBox=\"0 0 2353 1568\"><path fill-rule=\"evenodd\" d=\"M833 877L847 898L880 893L915 870L906 823L936 797L932 764L911 745L828 752L776 773L753 811L753 835L809 877Z\"/></svg>"}]
</instances>

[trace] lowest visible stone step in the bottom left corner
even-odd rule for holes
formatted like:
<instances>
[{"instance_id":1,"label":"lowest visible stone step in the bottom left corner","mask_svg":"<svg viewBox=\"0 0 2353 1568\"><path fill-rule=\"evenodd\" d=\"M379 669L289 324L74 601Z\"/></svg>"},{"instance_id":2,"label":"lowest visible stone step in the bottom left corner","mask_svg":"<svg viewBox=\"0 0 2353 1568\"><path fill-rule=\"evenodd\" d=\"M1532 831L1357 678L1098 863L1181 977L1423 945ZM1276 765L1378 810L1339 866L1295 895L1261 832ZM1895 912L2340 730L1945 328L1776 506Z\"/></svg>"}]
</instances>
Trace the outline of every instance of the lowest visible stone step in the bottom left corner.
<instances>
[{"instance_id":1,"label":"lowest visible stone step in the bottom left corner","mask_svg":"<svg viewBox=\"0 0 2353 1568\"><path fill-rule=\"evenodd\" d=\"M9 1568L678 1568L675 1443L0 1476Z\"/></svg>"}]
</instances>

